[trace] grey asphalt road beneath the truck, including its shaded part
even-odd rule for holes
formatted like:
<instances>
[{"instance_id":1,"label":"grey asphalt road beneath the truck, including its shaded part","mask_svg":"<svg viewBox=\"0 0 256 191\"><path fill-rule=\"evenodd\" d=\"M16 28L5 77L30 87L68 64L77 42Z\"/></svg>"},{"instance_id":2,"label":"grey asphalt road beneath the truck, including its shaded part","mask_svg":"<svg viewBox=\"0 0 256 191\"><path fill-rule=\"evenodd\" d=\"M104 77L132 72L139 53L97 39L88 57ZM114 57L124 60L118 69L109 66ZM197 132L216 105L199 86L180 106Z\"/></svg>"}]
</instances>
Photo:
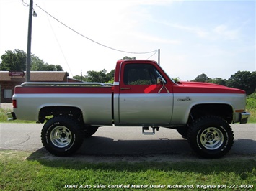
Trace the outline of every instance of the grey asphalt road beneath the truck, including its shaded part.
<instances>
[{"instance_id":1,"label":"grey asphalt road beneath the truck, including its shaded part","mask_svg":"<svg viewBox=\"0 0 256 191\"><path fill-rule=\"evenodd\" d=\"M43 124L0 124L0 150L37 152L44 150L40 139ZM234 145L229 154L256 154L256 124L233 124ZM154 135L142 134L141 127L102 126L84 139L76 154L133 156L148 154L190 155L193 151L175 129L160 128Z\"/></svg>"}]
</instances>

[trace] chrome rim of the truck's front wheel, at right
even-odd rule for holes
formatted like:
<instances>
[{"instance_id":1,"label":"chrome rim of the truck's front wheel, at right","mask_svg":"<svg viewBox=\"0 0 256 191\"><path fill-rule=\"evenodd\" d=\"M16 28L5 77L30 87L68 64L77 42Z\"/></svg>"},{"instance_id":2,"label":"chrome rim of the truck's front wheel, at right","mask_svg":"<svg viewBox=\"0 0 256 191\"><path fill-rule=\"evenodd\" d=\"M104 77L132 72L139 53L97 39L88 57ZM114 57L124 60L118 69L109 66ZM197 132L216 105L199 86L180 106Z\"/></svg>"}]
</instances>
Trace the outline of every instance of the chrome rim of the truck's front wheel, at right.
<instances>
[{"instance_id":1,"label":"chrome rim of the truck's front wheel, at right","mask_svg":"<svg viewBox=\"0 0 256 191\"><path fill-rule=\"evenodd\" d=\"M224 135L216 127L208 127L200 134L200 142L208 150L219 149L224 143Z\"/></svg>"}]
</instances>

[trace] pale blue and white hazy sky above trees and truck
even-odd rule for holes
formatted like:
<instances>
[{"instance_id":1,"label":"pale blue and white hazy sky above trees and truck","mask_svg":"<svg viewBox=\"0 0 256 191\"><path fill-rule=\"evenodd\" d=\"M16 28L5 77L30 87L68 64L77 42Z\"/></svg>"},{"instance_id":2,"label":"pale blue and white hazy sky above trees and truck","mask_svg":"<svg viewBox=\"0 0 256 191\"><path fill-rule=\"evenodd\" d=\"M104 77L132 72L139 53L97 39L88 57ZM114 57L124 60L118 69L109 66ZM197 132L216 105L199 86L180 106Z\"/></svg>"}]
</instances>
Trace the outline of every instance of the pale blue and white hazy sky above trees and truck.
<instances>
[{"instance_id":1,"label":"pale blue and white hazy sky above trees and truck","mask_svg":"<svg viewBox=\"0 0 256 191\"><path fill-rule=\"evenodd\" d=\"M6 50L27 52L27 4L30 0L0 0L0 56ZM125 56L157 61L154 50L160 50L164 71L185 81L202 73L229 79L239 70L256 70L254 0L34 0L33 5L32 54L61 65L70 77L110 72Z\"/></svg>"}]
</instances>

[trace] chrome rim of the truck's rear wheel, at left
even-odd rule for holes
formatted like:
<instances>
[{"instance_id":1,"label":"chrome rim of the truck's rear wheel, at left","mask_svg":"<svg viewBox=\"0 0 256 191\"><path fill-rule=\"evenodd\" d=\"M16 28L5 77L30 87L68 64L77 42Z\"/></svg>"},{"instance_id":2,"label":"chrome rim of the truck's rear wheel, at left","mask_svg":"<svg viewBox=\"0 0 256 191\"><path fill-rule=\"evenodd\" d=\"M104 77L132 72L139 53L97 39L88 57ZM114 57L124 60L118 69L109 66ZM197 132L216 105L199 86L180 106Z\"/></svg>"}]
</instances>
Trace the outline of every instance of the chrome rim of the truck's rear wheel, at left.
<instances>
[{"instance_id":1,"label":"chrome rim of the truck's rear wheel, at left","mask_svg":"<svg viewBox=\"0 0 256 191\"><path fill-rule=\"evenodd\" d=\"M72 134L66 126L56 126L50 133L50 141L54 146L63 148L71 143Z\"/></svg>"}]
</instances>

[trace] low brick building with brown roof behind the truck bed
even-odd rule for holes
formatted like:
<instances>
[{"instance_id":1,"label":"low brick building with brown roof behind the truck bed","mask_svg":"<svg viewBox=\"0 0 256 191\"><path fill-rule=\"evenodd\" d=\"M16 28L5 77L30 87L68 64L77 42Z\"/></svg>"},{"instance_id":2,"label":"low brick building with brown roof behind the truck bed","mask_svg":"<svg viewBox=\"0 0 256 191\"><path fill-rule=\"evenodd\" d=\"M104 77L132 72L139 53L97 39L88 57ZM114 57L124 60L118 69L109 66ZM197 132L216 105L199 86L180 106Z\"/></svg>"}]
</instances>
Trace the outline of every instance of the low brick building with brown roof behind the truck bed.
<instances>
[{"instance_id":1,"label":"low brick building with brown roof behind the truck bed","mask_svg":"<svg viewBox=\"0 0 256 191\"><path fill-rule=\"evenodd\" d=\"M69 78L69 73L56 71L31 71L31 82L79 82ZM1 103L11 103L14 87L25 82L25 73L9 73L8 71L0 71L0 96Z\"/></svg>"}]
</instances>

